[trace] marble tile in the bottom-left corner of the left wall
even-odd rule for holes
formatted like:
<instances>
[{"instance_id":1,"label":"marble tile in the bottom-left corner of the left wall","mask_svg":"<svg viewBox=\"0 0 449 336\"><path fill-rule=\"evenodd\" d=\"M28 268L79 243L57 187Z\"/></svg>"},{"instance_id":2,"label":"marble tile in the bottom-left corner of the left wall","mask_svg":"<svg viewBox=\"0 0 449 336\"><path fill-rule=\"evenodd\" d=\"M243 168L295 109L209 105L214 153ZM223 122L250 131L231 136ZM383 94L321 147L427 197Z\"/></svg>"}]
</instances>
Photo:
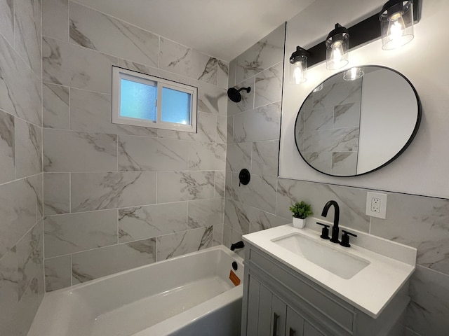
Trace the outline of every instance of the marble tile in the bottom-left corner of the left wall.
<instances>
[{"instance_id":1,"label":"marble tile in the bottom-left corner of the left wall","mask_svg":"<svg viewBox=\"0 0 449 336\"><path fill-rule=\"evenodd\" d=\"M0 335L14 335L19 300L15 246L0 258Z\"/></svg>"}]
</instances>

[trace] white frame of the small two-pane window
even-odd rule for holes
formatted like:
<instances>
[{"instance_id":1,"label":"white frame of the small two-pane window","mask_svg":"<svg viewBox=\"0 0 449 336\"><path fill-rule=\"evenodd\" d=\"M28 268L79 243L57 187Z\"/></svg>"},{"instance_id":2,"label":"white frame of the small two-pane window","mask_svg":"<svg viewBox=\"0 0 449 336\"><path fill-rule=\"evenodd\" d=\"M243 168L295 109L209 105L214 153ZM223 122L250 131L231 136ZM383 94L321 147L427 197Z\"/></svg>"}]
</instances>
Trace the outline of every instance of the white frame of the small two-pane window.
<instances>
[{"instance_id":1,"label":"white frame of the small two-pane window","mask_svg":"<svg viewBox=\"0 0 449 336\"><path fill-rule=\"evenodd\" d=\"M156 98L156 121L129 118L120 115L120 101L121 101L121 79L131 80L136 83L145 85L154 85L157 87ZM180 92L191 94L190 99L190 125L168 123L161 120L162 111L162 88L167 87ZM155 76L150 76L145 73L131 71L120 68L119 66L112 66L112 123L121 125L133 125L142 127L160 128L163 130L175 130L182 132L196 133L196 116L198 114L196 109L198 89L191 85L174 82Z\"/></svg>"}]
</instances>

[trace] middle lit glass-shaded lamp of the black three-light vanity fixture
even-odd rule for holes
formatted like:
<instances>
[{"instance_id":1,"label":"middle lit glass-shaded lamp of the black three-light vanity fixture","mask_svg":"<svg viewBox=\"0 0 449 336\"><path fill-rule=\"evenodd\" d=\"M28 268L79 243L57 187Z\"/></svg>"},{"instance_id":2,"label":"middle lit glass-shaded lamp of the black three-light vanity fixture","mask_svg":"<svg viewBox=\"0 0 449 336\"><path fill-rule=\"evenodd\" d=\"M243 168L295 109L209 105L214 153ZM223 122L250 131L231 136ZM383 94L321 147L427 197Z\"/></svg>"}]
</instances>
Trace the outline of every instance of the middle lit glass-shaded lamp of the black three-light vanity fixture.
<instances>
[{"instance_id":1,"label":"middle lit glass-shaded lamp of the black three-light vanity fixture","mask_svg":"<svg viewBox=\"0 0 449 336\"><path fill-rule=\"evenodd\" d=\"M339 23L326 38L326 68L340 69L349 62L349 31Z\"/></svg>"}]
</instances>

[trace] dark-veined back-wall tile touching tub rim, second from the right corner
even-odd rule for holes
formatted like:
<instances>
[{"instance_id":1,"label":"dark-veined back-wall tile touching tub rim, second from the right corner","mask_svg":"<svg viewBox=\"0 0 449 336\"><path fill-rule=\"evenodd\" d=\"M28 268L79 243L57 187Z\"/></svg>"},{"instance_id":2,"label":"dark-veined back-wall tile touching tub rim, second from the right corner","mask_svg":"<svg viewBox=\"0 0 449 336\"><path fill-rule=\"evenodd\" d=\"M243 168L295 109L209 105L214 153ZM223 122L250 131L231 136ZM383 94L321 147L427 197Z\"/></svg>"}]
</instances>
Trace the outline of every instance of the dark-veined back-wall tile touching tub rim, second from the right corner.
<instances>
[{"instance_id":1,"label":"dark-veined back-wall tile touching tub rim, second from the right corner","mask_svg":"<svg viewBox=\"0 0 449 336\"><path fill-rule=\"evenodd\" d=\"M157 237L157 261L200 251L213 244L213 226Z\"/></svg>"}]
</instances>

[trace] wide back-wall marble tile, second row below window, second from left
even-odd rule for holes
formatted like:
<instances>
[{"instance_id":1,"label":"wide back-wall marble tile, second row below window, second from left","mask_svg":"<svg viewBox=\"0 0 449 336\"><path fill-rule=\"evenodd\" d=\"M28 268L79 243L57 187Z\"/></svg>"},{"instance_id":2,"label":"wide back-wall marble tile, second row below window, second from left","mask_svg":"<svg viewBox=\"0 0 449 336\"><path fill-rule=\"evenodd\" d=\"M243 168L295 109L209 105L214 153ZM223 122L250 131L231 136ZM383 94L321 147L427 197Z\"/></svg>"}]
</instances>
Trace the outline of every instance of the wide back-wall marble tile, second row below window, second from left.
<instances>
[{"instance_id":1,"label":"wide back-wall marble tile, second row below window, second from left","mask_svg":"<svg viewBox=\"0 0 449 336\"><path fill-rule=\"evenodd\" d=\"M156 203L155 172L72 173L71 211Z\"/></svg>"}]
</instances>

